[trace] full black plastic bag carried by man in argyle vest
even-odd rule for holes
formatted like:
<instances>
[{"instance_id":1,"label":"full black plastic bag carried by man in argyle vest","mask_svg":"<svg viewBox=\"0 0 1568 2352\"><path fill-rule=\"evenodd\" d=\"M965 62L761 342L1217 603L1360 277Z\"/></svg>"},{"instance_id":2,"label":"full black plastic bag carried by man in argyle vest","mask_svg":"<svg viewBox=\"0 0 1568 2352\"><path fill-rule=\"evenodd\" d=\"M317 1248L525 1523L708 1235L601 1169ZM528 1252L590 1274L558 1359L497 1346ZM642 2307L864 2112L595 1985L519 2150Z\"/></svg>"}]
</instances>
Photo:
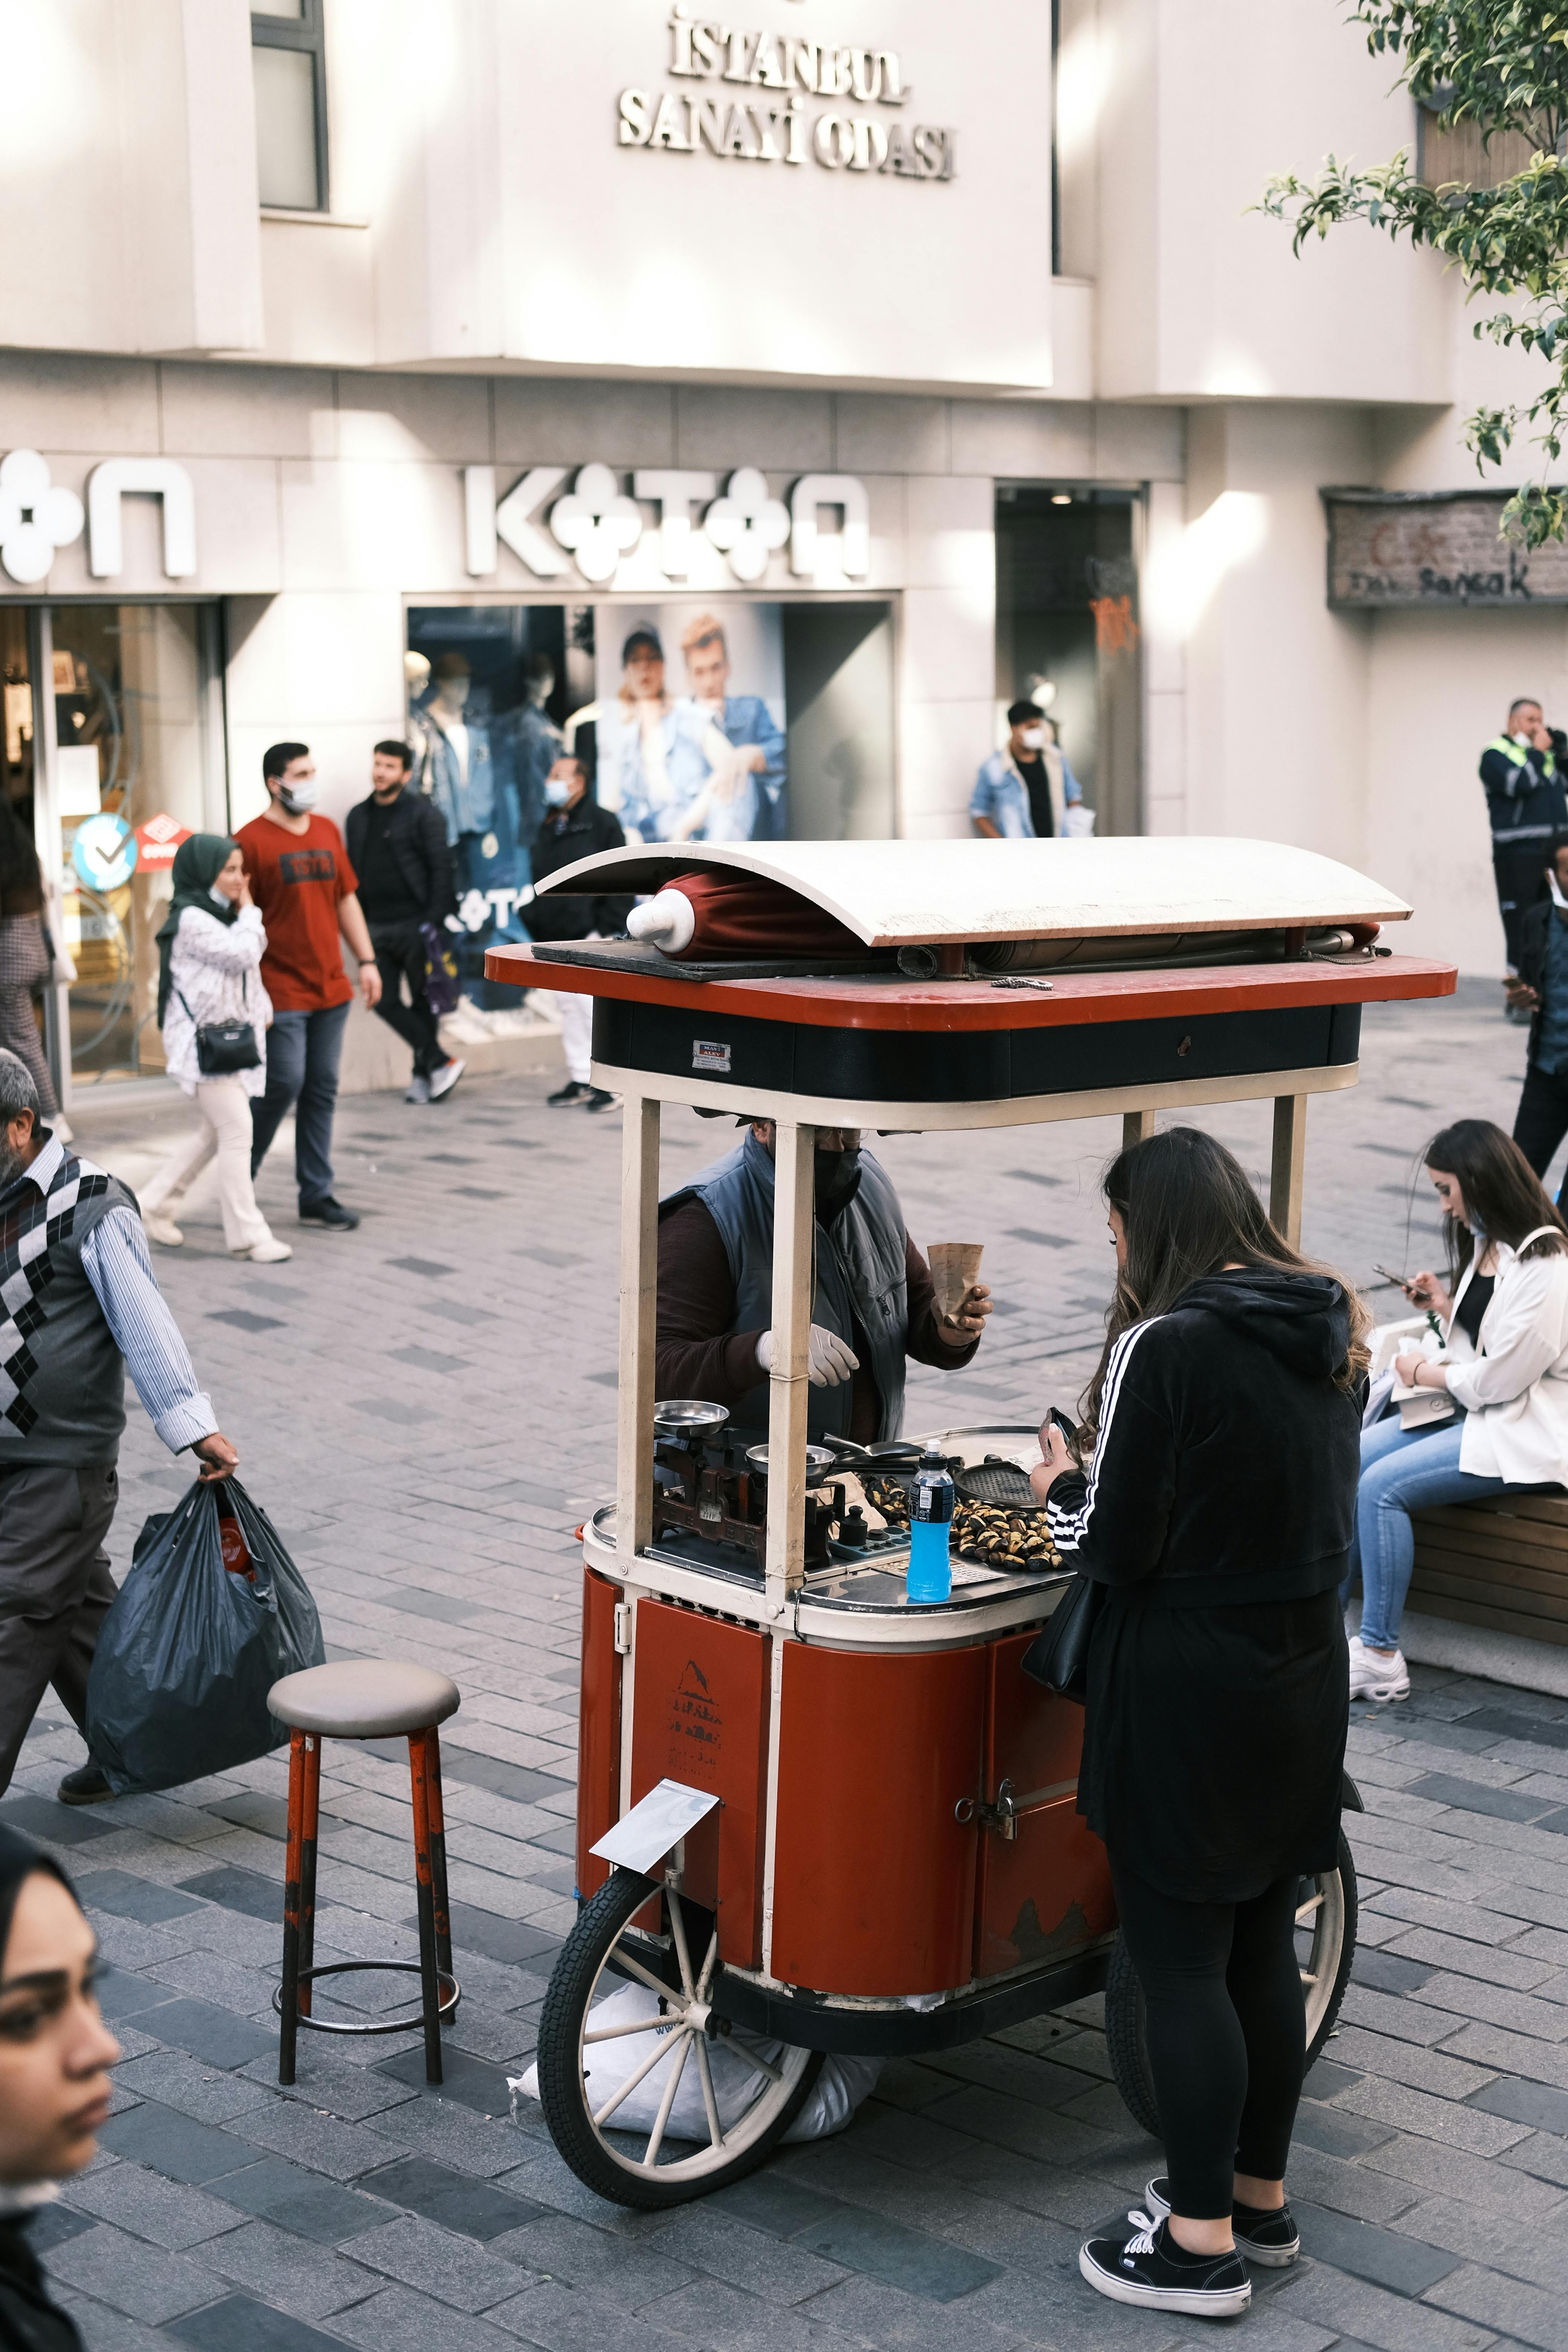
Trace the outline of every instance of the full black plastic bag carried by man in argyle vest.
<instances>
[{"instance_id":1,"label":"full black plastic bag carried by man in argyle vest","mask_svg":"<svg viewBox=\"0 0 1568 2352\"><path fill-rule=\"evenodd\" d=\"M136 1538L87 1677L87 1745L120 1797L230 1771L287 1740L266 1693L322 1658L315 1602L268 1515L240 1479L197 1479Z\"/></svg>"}]
</instances>

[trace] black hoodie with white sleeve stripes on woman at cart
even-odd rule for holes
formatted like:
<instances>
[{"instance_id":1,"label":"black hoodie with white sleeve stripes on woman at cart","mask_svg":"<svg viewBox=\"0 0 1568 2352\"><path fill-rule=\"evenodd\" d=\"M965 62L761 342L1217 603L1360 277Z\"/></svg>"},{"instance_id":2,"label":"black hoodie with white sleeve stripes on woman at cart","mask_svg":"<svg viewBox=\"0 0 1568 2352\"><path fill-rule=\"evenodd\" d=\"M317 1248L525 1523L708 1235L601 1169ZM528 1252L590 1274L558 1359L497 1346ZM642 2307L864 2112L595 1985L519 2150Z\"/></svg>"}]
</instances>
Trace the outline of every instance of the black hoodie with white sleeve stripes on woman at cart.
<instances>
[{"instance_id":1,"label":"black hoodie with white sleeve stripes on woman at cart","mask_svg":"<svg viewBox=\"0 0 1568 2352\"><path fill-rule=\"evenodd\" d=\"M1342 1583L1361 1397L1333 1374L1349 1305L1328 1275L1206 1275L1112 1348L1088 1475L1051 1534L1095 1583L1157 1609L1286 1602Z\"/></svg>"}]
</instances>

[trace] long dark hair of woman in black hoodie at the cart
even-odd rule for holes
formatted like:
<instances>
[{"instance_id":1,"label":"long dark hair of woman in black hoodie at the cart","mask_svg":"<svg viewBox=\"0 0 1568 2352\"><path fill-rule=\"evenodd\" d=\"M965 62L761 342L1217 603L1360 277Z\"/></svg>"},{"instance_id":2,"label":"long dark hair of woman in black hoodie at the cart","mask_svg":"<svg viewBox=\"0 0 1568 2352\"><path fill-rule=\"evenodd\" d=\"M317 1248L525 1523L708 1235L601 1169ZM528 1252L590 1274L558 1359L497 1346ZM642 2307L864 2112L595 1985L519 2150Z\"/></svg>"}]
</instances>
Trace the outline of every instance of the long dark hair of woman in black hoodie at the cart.
<instances>
[{"instance_id":1,"label":"long dark hair of woman in black hoodie at the cart","mask_svg":"<svg viewBox=\"0 0 1568 2352\"><path fill-rule=\"evenodd\" d=\"M1168 1127L1128 1145L1105 1169L1100 1190L1121 1218L1126 1265L1117 1268L1117 1296L1105 1315L1105 1350L1084 1390L1081 1428L1100 1423L1100 1390L1110 1352L1128 1324L1166 1315L1182 1291L1218 1275L1222 1265L1248 1265L1267 1275L1328 1275L1349 1308L1349 1352L1335 1371L1352 1388L1371 1362L1366 1334L1371 1315L1356 1291L1331 1265L1291 1249L1253 1192L1246 1169L1213 1136L1197 1127ZM1521 1228L1523 1230L1523 1228Z\"/></svg>"}]
</instances>

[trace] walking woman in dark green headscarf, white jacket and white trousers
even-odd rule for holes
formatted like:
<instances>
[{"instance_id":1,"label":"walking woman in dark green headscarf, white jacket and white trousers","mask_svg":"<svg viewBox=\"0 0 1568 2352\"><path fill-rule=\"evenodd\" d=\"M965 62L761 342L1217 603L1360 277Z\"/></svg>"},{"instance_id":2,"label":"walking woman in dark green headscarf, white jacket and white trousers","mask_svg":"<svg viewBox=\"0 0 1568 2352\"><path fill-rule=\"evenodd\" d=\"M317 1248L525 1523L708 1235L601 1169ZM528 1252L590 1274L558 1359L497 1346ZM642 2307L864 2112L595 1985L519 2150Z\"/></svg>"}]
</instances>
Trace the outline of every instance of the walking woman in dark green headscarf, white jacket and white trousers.
<instances>
[{"instance_id":1,"label":"walking woman in dark green headscarf, white jacket and white trousers","mask_svg":"<svg viewBox=\"0 0 1568 2352\"><path fill-rule=\"evenodd\" d=\"M141 1221L165 1249L179 1249L174 1223L193 1176L219 1155L219 1204L223 1240L237 1258L277 1265L292 1258L275 1242L252 1188L252 1094L266 1087L266 1033L273 1004L261 985L266 931L252 906L244 854L221 833L193 833L174 851L174 903L158 934L158 1018L162 1049L183 1094L195 1096L202 1124L176 1143L153 1181L141 1190ZM247 1070L205 1073L197 1028L216 1021L247 1023L256 1061Z\"/></svg>"}]
</instances>

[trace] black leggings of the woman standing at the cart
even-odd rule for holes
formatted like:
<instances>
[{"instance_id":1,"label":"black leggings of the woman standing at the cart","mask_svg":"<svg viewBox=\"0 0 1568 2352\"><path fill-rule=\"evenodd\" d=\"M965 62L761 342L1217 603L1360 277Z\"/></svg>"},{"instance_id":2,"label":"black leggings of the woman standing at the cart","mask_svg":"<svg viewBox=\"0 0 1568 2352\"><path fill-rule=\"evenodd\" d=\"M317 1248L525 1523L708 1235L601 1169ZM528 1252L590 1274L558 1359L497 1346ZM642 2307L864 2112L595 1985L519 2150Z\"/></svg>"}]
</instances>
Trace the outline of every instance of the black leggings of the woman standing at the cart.
<instances>
[{"instance_id":1,"label":"black leggings of the woman standing at the cart","mask_svg":"<svg viewBox=\"0 0 1568 2352\"><path fill-rule=\"evenodd\" d=\"M1150 2025L1171 2211L1229 2220L1234 2173L1284 2180L1307 2063L1295 1959L1298 1879L1251 1903L1178 1903L1112 1882Z\"/></svg>"}]
</instances>

